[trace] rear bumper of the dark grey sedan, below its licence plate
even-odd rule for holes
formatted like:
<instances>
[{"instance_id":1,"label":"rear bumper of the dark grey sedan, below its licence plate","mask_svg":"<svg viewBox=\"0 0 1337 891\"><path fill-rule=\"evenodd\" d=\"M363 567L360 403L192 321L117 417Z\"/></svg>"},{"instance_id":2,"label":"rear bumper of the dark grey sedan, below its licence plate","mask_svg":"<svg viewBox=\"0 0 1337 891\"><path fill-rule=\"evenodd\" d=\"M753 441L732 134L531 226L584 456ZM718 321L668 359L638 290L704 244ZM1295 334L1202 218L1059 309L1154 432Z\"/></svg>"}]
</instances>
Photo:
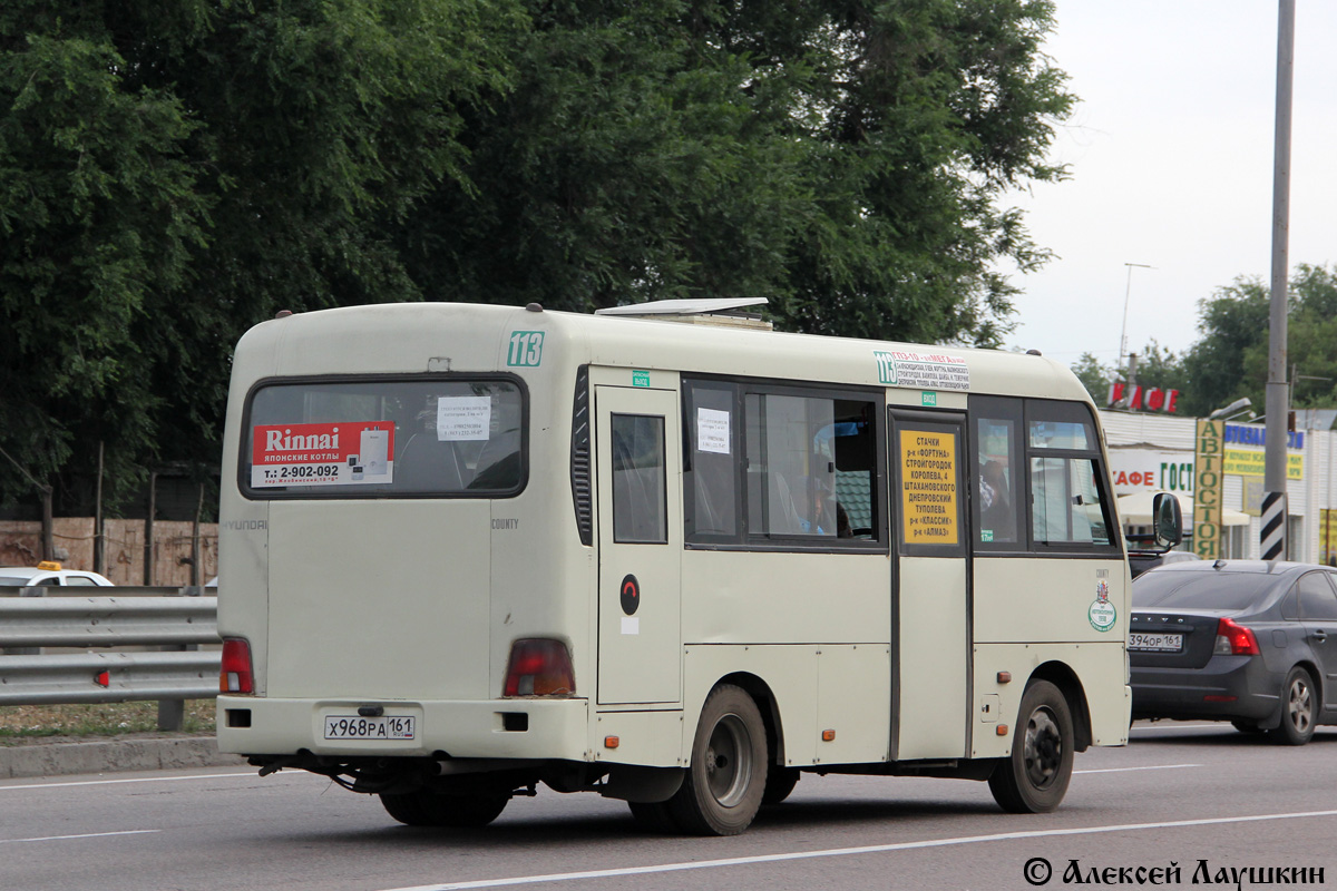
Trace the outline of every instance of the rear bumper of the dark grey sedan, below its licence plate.
<instances>
[{"instance_id":1,"label":"rear bumper of the dark grey sedan, below its licence plate","mask_svg":"<svg viewBox=\"0 0 1337 891\"><path fill-rule=\"evenodd\" d=\"M1261 656L1213 656L1202 668L1132 665L1132 717L1266 721L1281 708L1284 680Z\"/></svg>"}]
</instances>

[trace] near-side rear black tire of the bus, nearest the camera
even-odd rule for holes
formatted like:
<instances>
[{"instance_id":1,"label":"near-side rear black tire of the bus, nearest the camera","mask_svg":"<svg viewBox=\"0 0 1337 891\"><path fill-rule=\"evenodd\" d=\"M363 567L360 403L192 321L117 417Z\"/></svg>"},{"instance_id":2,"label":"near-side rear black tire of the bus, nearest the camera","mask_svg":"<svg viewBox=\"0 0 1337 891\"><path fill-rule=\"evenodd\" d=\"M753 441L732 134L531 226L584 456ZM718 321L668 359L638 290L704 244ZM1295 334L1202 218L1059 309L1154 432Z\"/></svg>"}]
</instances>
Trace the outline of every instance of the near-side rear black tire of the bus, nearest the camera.
<instances>
[{"instance_id":1,"label":"near-side rear black tire of the bus, nearest the camera","mask_svg":"<svg viewBox=\"0 0 1337 891\"><path fill-rule=\"evenodd\" d=\"M691 744L691 767L668 799L674 823L693 835L738 835L766 792L766 725L751 697L721 684L706 697Z\"/></svg>"}]
</instances>

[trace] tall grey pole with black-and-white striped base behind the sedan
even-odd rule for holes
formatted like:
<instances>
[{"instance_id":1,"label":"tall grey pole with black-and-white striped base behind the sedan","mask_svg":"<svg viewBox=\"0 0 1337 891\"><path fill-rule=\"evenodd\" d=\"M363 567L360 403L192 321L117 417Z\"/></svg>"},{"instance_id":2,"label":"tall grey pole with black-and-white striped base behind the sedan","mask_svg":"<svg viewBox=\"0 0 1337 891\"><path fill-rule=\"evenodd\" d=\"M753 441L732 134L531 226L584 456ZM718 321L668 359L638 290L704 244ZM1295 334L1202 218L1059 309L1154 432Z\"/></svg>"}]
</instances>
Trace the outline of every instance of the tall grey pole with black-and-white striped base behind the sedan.
<instances>
[{"instance_id":1,"label":"tall grey pole with black-and-white striped base behind the sedan","mask_svg":"<svg viewBox=\"0 0 1337 891\"><path fill-rule=\"evenodd\" d=\"M1290 96L1296 68L1296 0L1278 0L1277 128L1271 179L1271 306L1267 318L1267 441L1263 449L1263 560L1286 548L1286 275L1290 252Z\"/></svg>"}]
</instances>

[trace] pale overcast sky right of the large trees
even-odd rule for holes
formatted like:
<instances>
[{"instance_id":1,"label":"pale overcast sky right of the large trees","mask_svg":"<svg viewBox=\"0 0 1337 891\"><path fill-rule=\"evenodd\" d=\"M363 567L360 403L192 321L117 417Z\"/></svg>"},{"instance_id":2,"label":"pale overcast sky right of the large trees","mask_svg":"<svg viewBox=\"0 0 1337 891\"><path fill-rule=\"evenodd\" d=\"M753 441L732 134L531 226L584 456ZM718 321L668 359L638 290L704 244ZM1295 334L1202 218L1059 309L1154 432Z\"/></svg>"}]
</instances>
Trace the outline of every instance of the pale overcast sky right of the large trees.
<instances>
[{"instance_id":1,"label":"pale overcast sky right of the large trees","mask_svg":"<svg viewBox=\"0 0 1337 891\"><path fill-rule=\"evenodd\" d=\"M1005 343L1114 366L1126 327L1128 351L1181 353L1199 301L1270 282L1278 4L1058 0L1056 21L1044 51L1080 99L1051 148L1070 179L1009 202L1056 258L1011 275ZM1292 115L1289 266L1337 264L1334 0L1296 0Z\"/></svg>"}]
</instances>

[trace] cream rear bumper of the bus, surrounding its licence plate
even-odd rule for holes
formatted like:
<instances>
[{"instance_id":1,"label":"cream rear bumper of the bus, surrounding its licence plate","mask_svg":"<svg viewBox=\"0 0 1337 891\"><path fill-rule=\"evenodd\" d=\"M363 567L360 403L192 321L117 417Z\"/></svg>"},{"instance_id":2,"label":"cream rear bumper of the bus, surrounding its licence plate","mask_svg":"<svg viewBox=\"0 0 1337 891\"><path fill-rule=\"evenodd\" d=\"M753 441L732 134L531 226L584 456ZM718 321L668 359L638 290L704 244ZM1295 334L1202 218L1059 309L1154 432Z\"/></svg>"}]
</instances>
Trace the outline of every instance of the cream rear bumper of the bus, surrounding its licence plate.
<instances>
[{"instance_id":1,"label":"cream rear bumper of the bus, surrounding its licence plate","mask_svg":"<svg viewBox=\"0 0 1337 891\"><path fill-rule=\"evenodd\" d=\"M412 716L412 740L326 740L324 716L356 716L368 700L218 697L218 751L237 755L588 760L584 699L377 701L385 715ZM508 717L509 716L509 717ZM517 717L523 716L523 717ZM523 728L523 729L521 729Z\"/></svg>"}]
</instances>

